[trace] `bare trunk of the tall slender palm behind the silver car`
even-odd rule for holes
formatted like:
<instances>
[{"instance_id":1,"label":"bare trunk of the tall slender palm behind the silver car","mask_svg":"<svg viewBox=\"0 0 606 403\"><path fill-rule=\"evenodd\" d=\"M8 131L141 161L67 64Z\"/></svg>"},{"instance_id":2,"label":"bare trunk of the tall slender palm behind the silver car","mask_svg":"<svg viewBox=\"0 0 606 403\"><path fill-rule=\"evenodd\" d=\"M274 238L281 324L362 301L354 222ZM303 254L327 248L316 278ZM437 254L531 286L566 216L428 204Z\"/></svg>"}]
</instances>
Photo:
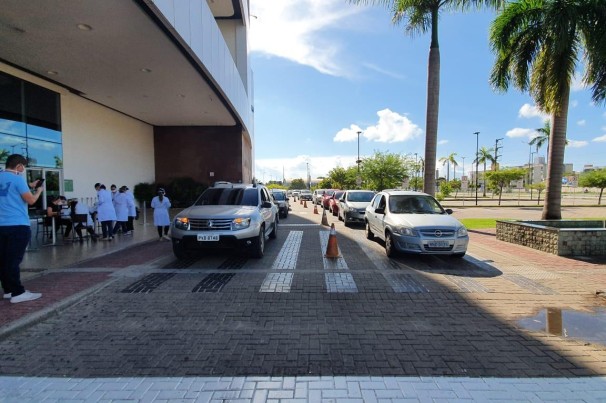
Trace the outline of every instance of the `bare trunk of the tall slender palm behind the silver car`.
<instances>
[{"instance_id":1,"label":"bare trunk of the tall slender palm behind the silver car","mask_svg":"<svg viewBox=\"0 0 606 403\"><path fill-rule=\"evenodd\" d=\"M423 191L436 194L436 153L438 110L440 106L440 46L438 44L438 9L431 13L431 45L427 66L427 111L425 116L425 174Z\"/></svg>"}]
</instances>

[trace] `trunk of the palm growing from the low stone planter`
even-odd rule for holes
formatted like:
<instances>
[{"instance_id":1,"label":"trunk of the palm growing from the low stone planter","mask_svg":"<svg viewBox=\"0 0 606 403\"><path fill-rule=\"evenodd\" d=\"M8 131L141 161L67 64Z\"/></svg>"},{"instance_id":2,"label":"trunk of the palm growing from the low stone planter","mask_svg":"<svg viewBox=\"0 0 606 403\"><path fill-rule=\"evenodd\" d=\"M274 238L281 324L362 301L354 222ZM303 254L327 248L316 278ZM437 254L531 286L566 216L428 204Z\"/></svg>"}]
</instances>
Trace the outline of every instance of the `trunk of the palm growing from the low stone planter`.
<instances>
[{"instance_id":1,"label":"trunk of the palm growing from the low stone planter","mask_svg":"<svg viewBox=\"0 0 606 403\"><path fill-rule=\"evenodd\" d=\"M560 110L551 115L552 124L549 136L549 162L547 163L547 188L545 189L543 220L562 219L562 178L564 177L569 97L570 87L564 94Z\"/></svg>"}]
</instances>

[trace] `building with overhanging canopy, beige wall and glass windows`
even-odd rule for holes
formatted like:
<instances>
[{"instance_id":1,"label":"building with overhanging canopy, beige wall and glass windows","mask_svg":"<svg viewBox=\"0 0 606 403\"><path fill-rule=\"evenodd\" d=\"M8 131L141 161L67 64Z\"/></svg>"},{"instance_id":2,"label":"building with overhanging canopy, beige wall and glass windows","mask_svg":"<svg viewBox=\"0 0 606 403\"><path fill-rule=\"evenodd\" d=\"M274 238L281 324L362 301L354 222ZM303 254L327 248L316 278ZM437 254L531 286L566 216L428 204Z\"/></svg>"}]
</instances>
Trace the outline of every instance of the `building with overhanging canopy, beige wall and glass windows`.
<instances>
[{"instance_id":1,"label":"building with overhanging canopy, beige wall and glass windows","mask_svg":"<svg viewBox=\"0 0 606 403\"><path fill-rule=\"evenodd\" d=\"M47 196L92 198L96 182L252 180L248 0L0 9L0 155L27 156Z\"/></svg>"}]
</instances>

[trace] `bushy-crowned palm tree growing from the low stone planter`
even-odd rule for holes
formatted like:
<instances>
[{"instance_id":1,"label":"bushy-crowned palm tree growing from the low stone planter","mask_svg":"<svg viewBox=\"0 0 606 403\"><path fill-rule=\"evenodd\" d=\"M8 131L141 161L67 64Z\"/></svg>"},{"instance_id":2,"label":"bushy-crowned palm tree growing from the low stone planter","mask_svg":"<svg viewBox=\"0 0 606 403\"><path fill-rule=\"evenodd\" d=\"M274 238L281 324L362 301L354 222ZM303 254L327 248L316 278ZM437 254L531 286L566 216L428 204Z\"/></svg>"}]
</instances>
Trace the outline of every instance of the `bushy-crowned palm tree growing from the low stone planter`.
<instances>
[{"instance_id":1,"label":"bushy-crowned palm tree growing from the low stone planter","mask_svg":"<svg viewBox=\"0 0 606 403\"><path fill-rule=\"evenodd\" d=\"M529 91L551 115L543 219L562 218L562 176L570 83L580 55L593 101L606 98L606 12L603 0L518 0L490 27L496 54L492 85Z\"/></svg>"}]
</instances>

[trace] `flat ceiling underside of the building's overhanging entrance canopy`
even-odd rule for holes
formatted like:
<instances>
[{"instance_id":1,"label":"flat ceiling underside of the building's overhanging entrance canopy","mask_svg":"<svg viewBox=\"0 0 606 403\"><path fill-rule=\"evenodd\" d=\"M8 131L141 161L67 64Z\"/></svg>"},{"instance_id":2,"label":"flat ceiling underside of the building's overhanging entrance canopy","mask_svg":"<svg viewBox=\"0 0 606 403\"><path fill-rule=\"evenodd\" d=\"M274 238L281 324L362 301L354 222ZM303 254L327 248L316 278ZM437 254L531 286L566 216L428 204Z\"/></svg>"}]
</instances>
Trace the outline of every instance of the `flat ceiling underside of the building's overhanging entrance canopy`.
<instances>
[{"instance_id":1,"label":"flat ceiling underside of the building's overhanging entrance canopy","mask_svg":"<svg viewBox=\"0 0 606 403\"><path fill-rule=\"evenodd\" d=\"M1 60L152 125L236 124L135 1L0 0L0 9Z\"/></svg>"}]
</instances>

